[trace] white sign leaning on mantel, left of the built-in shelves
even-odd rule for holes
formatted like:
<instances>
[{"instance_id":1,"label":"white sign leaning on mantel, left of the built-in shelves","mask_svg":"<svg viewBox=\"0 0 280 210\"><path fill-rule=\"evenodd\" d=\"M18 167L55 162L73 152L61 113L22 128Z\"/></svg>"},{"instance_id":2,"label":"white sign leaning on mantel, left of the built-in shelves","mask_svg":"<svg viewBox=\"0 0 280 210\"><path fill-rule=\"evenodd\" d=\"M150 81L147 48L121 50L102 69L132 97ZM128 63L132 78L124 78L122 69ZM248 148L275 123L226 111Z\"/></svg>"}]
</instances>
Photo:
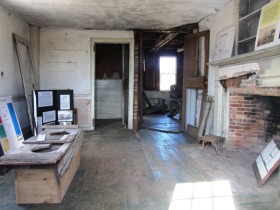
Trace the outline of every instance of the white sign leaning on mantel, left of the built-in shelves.
<instances>
[{"instance_id":1,"label":"white sign leaning on mantel, left of the built-in shelves","mask_svg":"<svg viewBox=\"0 0 280 210\"><path fill-rule=\"evenodd\" d=\"M235 26L232 26L216 36L213 61L230 58L233 50Z\"/></svg>"}]
</instances>

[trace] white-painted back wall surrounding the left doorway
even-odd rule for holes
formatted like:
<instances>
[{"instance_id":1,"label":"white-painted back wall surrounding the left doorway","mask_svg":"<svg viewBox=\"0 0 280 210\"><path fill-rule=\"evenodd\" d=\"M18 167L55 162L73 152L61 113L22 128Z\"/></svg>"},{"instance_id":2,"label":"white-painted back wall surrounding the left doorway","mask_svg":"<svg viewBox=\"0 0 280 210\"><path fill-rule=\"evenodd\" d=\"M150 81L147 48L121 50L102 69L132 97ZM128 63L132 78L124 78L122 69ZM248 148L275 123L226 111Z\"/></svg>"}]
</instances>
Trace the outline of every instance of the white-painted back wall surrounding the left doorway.
<instances>
[{"instance_id":1,"label":"white-painted back wall surrounding the left doorway","mask_svg":"<svg viewBox=\"0 0 280 210\"><path fill-rule=\"evenodd\" d=\"M92 42L95 40L127 40L134 43L133 31L104 31L104 30L76 30L76 29L48 29L40 30L40 88L74 90L74 106L78 108L78 123L85 129L90 129L93 110L83 109L92 106L92 91L95 83L92 82L94 61L92 56ZM129 81L129 109L132 128L133 117L133 54L134 45L130 49L130 81ZM90 99L90 100L87 100ZM83 100L77 102L77 100ZM78 105L79 107L77 107ZM87 112L79 114L79 112ZM80 116L80 117L79 117Z\"/></svg>"}]
</instances>

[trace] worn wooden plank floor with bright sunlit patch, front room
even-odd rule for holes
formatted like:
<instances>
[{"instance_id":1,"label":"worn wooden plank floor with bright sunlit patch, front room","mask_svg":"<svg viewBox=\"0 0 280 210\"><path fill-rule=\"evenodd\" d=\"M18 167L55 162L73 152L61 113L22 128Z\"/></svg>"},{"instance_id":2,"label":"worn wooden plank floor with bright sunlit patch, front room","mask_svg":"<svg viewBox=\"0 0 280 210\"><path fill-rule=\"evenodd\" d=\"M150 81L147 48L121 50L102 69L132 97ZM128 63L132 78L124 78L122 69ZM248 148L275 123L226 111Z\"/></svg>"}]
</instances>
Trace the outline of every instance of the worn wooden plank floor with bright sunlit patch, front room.
<instances>
[{"instance_id":1,"label":"worn wooden plank floor with bright sunlit patch, front room","mask_svg":"<svg viewBox=\"0 0 280 210\"><path fill-rule=\"evenodd\" d=\"M0 177L0 209L280 209L277 173L257 188L251 166L257 153L216 155L183 134L135 135L114 123L85 132L81 154L61 204L16 205L12 170Z\"/></svg>"}]
</instances>

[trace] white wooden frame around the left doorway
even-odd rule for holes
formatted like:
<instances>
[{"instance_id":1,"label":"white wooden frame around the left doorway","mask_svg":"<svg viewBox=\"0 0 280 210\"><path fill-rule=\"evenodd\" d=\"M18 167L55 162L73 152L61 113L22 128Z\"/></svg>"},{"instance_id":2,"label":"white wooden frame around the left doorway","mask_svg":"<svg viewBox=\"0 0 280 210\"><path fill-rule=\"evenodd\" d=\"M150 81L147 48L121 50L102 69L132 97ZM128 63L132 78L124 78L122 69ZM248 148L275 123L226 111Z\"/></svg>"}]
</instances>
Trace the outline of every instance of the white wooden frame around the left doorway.
<instances>
[{"instance_id":1,"label":"white wooden frame around the left doorway","mask_svg":"<svg viewBox=\"0 0 280 210\"><path fill-rule=\"evenodd\" d=\"M133 129L134 98L134 38L91 38L91 130L95 129L95 44L128 44L129 45L129 82L128 82L128 129Z\"/></svg>"}]
</instances>

